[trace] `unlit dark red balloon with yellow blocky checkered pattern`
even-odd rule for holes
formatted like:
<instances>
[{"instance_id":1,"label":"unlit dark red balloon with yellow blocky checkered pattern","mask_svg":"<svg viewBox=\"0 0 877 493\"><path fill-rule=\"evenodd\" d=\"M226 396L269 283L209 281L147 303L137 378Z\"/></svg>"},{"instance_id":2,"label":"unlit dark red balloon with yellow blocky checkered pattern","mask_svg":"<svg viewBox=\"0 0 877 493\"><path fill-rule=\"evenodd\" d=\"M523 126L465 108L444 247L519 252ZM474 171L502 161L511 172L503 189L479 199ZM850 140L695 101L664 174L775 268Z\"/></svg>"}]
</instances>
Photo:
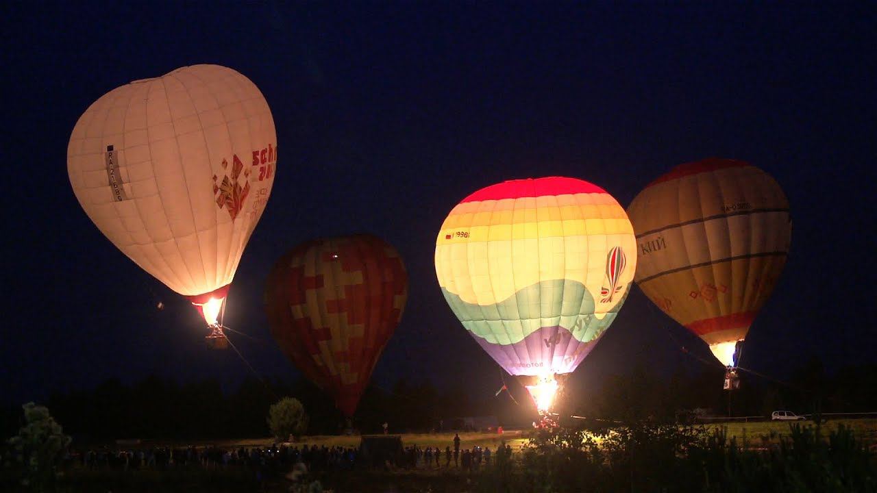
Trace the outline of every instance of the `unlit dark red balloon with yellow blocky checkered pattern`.
<instances>
[{"instance_id":1,"label":"unlit dark red balloon with yellow blocky checkered pattern","mask_svg":"<svg viewBox=\"0 0 877 493\"><path fill-rule=\"evenodd\" d=\"M357 234L284 254L268 276L265 310L283 353L350 418L407 298L396 249Z\"/></svg>"}]
</instances>

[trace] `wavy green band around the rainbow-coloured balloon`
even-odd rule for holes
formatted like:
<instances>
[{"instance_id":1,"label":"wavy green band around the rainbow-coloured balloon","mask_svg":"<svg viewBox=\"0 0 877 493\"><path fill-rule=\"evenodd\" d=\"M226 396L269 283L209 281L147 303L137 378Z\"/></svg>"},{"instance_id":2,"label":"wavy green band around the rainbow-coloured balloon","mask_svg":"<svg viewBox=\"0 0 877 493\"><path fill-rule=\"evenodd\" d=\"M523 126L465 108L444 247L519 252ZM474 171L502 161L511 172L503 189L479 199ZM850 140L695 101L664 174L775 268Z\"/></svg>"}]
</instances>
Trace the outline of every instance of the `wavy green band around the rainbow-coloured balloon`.
<instances>
[{"instance_id":1,"label":"wavy green band around the rainbow-coloured balloon","mask_svg":"<svg viewBox=\"0 0 877 493\"><path fill-rule=\"evenodd\" d=\"M576 340L588 342L606 330L624 304L624 297L606 313L594 316L595 302L584 284L569 279L555 279L531 284L496 304L471 304L442 288L447 304L460 323L473 335L491 344L520 342L540 327L560 325Z\"/></svg>"}]
</instances>

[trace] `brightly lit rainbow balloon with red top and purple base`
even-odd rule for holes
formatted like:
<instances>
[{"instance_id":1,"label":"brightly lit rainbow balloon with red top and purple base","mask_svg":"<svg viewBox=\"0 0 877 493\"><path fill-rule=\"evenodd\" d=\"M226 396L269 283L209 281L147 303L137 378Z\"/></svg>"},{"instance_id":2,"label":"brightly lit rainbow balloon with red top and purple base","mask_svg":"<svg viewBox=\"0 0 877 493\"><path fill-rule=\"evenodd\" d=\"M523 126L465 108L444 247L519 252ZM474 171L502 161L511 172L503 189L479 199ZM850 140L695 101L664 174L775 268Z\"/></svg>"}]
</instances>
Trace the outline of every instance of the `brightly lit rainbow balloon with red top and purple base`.
<instances>
[{"instance_id":1,"label":"brightly lit rainbow balloon with red top and purple base","mask_svg":"<svg viewBox=\"0 0 877 493\"><path fill-rule=\"evenodd\" d=\"M615 198L557 176L474 192L436 240L447 303L478 344L519 376L578 367L624 304L636 263L633 228Z\"/></svg>"}]
</instances>

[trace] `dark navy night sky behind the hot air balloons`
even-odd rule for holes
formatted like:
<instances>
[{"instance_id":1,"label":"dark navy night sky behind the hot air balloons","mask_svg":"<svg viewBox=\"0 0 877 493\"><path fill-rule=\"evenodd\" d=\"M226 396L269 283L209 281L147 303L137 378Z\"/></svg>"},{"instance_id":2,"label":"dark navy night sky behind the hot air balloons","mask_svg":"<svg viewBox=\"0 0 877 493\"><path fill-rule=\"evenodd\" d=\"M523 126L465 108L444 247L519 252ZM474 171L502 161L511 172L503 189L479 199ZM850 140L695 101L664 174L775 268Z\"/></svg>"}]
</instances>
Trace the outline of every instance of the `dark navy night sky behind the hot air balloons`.
<instances>
[{"instance_id":1,"label":"dark navy night sky behind the hot air balloons","mask_svg":"<svg viewBox=\"0 0 877 493\"><path fill-rule=\"evenodd\" d=\"M410 275L375 382L467 382L489 396L500 370L433 268L453 206L545 175L594 182L626 206L709 156L773 175L794 218L741 366L783 378L811 355L829 369L877 362L875 18L873 3L3 3L0 402L150 374L234 389L250 371L204 346L196 311L104 239L68 181L68 139L89 104L197 63L249 77L275 118L274 189L225 316L260 375L298 375L262 311L275 259L306 239L372 232ZM576 377L698 368L682 345L711 358L634 288Z\"/></svg>"}]
</instances>

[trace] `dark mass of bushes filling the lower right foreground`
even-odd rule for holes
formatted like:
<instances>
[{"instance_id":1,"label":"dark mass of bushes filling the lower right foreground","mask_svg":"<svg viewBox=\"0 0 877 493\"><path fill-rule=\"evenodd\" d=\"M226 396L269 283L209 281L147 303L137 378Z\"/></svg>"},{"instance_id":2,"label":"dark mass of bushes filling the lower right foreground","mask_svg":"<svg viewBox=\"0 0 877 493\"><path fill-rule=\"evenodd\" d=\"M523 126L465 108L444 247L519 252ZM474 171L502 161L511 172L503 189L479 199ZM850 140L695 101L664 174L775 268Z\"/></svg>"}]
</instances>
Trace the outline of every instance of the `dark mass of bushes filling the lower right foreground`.
<instances>
[{"instance_id":1,"label":"dark mass of bushes filling the lower right foreground","mask_svg":"<svg viewBox=\"0 0 877 493\"><path fill-rule=\"evenodd\" d=\"M873 454L852 430L827 439L816 426L791 425L764 447L728 439L726 430L636 422L611 429L535 430L519 461L497 461L481 491L517 493L788 491L877 492ZM777 443L778 442L778 443ZM774 443L774 445L771 445Z\"/></svg>"}]
</instances>

